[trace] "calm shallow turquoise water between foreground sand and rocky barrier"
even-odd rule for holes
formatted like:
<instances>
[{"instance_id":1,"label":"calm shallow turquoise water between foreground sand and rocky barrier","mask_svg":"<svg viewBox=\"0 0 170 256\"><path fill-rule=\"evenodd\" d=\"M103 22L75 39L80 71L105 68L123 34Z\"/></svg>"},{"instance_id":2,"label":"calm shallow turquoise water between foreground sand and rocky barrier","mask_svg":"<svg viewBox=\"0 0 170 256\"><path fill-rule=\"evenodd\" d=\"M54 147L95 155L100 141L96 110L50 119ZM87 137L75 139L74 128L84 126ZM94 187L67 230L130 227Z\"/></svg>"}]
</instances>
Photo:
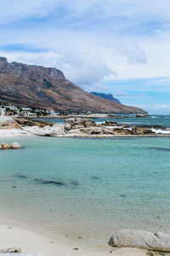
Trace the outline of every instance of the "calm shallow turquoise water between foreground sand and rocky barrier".
<instances>
[{"instance_id":1,"label":"calm shallow turquoise water between foreground sand and rocky barrier","mask_svg":"<svg viewBox=\"0 0 170 256\"><path fill-rule=\"evenodd\" d=\"M121 228L170 233L170 137L5 141L25 148L0 151L1 218L90 244Z\"/></svg>"}]
</instances>

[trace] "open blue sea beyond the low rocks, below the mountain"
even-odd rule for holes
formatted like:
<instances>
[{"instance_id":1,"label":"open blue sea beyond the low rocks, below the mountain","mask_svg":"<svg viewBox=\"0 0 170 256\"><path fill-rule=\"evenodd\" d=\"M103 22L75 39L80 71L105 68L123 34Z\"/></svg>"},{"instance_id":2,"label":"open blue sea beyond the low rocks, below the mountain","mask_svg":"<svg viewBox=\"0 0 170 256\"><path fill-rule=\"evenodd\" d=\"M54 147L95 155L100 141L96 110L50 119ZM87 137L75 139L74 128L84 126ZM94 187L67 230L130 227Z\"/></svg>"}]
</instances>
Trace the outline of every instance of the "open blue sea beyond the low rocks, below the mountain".
<instances>
[{"instance_id":1,"label":"open blue sea beyond the low rocks, below the mountain","mask_svg":"<svg viewBox=\"0 0 170 256\"><path fill-rule=\"evenodd\" d=\"M43 119L52 123L64 123L64 119ZM94 122L105 122L105 119L93 119ZM113 119L107 118L113 122L127 125L161 125L170 128L170 115L151 115L150 118L128 118L128 119Z\"/></svg>"}]
</instances>

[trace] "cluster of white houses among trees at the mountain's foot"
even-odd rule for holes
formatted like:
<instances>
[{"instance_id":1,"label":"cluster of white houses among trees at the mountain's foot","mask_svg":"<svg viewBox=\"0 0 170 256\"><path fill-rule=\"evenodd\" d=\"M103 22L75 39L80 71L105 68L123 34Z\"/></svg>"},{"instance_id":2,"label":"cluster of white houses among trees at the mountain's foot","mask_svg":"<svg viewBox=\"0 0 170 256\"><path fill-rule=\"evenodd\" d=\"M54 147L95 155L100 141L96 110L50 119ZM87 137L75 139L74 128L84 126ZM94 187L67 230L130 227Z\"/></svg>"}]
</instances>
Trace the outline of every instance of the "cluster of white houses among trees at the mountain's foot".
<instances>
[{"instance_id":1,"label":"cluster of white houses among trees at the mountain's foot","mask_svg":"<svg viewBox=\"0 0 170 256\"><path fill-rule=\"evenodd\" d=\"M30 107L20 108L14 105L6 105L0 104L0 116L19 116L19 117L40 117L40 116L50 116L55 117L59 115L54 110L46 110L46 109L33 109Z\"/></svg>"}]
</instances>

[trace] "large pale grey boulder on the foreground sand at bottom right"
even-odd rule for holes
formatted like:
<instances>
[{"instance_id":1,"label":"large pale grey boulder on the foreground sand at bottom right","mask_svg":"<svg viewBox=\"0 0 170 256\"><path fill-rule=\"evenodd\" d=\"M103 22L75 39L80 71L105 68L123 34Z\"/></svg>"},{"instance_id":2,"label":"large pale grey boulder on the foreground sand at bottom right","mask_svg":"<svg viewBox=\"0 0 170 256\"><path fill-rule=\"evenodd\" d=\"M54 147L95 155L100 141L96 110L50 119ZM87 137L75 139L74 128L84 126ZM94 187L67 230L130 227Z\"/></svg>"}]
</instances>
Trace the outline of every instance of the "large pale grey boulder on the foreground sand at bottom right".
<instances>
[{"instance_id":1,"label":"large pale grey boulder on the foreground sand at bottom right","mask_svg":"<svg viewBox=\"0 0 170 256\"><path fill-rule=\"evenodd\" d=\"M152 251L170 252L170 236L161 232L155 234L144 230L119 230L111 236L112 247L138 247Z\"/></svg>"}]
</instances>

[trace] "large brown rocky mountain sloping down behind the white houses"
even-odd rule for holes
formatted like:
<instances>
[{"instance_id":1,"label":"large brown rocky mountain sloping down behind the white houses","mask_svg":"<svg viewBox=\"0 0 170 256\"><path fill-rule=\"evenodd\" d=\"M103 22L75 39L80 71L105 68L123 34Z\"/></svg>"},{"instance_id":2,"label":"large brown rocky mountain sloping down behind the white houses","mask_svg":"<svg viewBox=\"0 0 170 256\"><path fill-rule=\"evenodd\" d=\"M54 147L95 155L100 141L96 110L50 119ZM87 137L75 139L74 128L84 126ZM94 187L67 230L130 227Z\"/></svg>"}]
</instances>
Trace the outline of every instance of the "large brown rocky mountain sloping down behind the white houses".
<instances>
[{"instance_id":1,"label":"large brown rocky mountain sloping down behind the white houses","mask_svg":"<svg viewBox=\"0 0 170 256\"><path fill-rule=\"evenodd\" d=\"M40 67L0 57L0 102L20 107L93 113L145 113L80 89L54 67Z\"/></svg>"}]
</instances>

